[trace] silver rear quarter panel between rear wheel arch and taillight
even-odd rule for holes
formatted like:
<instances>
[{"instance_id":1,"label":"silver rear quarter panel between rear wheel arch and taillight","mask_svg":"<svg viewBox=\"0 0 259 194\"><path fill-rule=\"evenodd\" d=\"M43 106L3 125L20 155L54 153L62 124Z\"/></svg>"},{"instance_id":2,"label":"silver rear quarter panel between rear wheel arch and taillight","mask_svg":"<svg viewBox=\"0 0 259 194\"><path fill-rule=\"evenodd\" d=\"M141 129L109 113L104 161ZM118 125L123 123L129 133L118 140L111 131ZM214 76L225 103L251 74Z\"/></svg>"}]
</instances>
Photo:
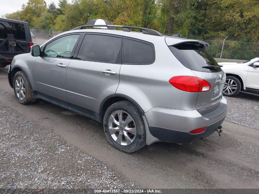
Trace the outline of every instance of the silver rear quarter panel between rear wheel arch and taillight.
<instances>
[{"instance_id":1,"label":"silver rear quarter panel between rear wheel arch and taillight","mask_svg":"<svg viewBox=\"0 0 259 194\"><path fill-rule=\"evenodd\" d=\"M174 76L195 74L175 58L164 37L155 38L152 43L155 62L150 65L122 64L116 93L134 99L143 112L156 106L195 110L198 93L178 90L169 83L169 79Z\"/></svg>"}]
</instances>

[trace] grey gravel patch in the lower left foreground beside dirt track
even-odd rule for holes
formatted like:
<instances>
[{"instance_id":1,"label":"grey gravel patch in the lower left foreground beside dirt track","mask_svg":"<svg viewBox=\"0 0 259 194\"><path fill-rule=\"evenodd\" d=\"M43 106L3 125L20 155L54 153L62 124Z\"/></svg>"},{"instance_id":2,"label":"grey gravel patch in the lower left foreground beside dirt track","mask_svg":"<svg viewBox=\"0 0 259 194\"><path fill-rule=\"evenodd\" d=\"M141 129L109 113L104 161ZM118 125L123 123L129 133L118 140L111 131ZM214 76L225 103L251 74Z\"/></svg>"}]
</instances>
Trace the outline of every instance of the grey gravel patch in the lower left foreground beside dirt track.
<instances>
[{"instance_id":1,"label":"grey gravel patch in the lower left foreground beside dirt track","mask_svg":"<svg viewBox=\"0 0 259 194\"><path fill-rule=\"evenodd\" d=\"M1 104L0 134L1 192L24 188L136 188L105 163L68 145L51 129Z\"/></svg>"}]
</instances>

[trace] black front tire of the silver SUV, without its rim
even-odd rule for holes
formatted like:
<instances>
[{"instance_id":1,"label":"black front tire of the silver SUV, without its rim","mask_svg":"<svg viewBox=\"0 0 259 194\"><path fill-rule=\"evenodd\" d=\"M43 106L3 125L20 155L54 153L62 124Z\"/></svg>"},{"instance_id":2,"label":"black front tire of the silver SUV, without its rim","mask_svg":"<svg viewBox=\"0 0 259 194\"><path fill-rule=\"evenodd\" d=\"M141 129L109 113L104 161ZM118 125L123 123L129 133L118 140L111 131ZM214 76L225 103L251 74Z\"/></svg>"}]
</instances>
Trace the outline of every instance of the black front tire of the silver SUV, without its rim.
<instances>
[{"instance_id":1,"label":"black front tire of the silver SUV, without its rim","mask_svg":"<svg viewBox=\"0 0 259 194\"><path fill-rule=\"evenodd\" d=\"M16 93L16 89L15 89L15 82L17 77L21 77L23 82L24 82L24 88L25 88L25 97L23 99L20 99ZM31 84L27 78L27 76L25 75L25 73L23 71L18 71L14 77L13 77L13 90L14 90L14 94L15 97L17 99L17 101L23 105L28 105L28 104L33 104L36 102L37 99L32 97L32 87Z\"/></svg>"}]
</instances>

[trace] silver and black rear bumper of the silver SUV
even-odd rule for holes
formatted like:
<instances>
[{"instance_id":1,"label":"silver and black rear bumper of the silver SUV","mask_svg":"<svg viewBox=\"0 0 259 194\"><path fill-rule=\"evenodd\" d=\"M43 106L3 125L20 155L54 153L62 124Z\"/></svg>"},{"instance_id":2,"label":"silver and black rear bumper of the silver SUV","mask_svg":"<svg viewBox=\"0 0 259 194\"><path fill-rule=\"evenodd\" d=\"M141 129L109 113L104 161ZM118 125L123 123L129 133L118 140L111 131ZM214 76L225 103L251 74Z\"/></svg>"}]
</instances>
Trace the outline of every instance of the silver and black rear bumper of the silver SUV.
<instances>
[{"instance_id":1,"label":"silver and black rear bumper of the silver SUV","mask_svg":"<svg viewBox=\"0 0 259 194\"><path fill-rule=\"evenodd\" d=\"M158 141L192 143L198 139L208 137L223 123L227 115L226 99L223 97L220 103L221 105L218 109L203 116L196 110L176 110L163 107L150 109L145 113L149 132L152 135L151 138L147 139L147 145ZM206 129L202 133L189 133L193 129L205 126Z\"/></svg>"}]
</instances>

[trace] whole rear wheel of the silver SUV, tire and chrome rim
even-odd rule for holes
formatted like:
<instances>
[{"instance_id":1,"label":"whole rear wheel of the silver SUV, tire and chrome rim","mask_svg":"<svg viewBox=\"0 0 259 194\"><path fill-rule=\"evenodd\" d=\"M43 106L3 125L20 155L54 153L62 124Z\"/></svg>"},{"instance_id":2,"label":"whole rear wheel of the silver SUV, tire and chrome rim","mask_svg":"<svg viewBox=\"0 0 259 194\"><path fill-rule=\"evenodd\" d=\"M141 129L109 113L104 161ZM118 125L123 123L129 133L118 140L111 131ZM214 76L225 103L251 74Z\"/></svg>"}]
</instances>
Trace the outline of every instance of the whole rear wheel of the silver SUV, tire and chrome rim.
<instances>
[{"instance_id":1,"label":"whole rear wheel of the silver SUV, tire and chrome rim","mask_svg":"<svg viewBox=\"0 0 259 194\"><path fill-rule=\"evenodd\" d=\"M129 153L146 145L143 118L131 102L112 104L105 112L103 123L105 135L116 149Z\"/></svg>"}]
</instances>

